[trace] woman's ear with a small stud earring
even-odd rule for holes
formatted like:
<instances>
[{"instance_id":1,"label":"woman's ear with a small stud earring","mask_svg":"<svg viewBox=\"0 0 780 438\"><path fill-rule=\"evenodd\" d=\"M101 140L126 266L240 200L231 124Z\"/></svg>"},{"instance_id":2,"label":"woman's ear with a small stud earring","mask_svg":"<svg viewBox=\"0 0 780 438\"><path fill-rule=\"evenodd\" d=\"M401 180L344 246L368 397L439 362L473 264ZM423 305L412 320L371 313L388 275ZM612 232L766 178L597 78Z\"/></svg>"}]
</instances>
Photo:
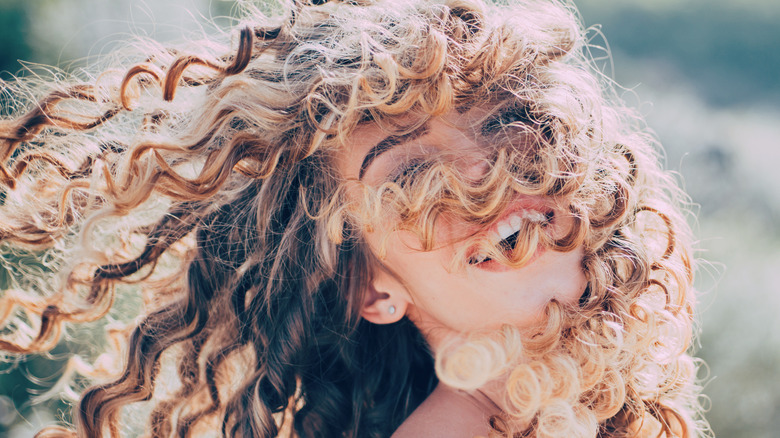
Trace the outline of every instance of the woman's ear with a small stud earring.
<instances>
[{"instance_id":1,"label":"woman's ear with a small stud earring","mask_svg":"<svg viewBox=\"0 0 780 438\"><path fill-rule=\"evenodd\" d=\"M401 283L384 270L378 269L369 283L360 316L374 324L392 324L406 315L409 294Z\"/></svg>"}]
</instances>

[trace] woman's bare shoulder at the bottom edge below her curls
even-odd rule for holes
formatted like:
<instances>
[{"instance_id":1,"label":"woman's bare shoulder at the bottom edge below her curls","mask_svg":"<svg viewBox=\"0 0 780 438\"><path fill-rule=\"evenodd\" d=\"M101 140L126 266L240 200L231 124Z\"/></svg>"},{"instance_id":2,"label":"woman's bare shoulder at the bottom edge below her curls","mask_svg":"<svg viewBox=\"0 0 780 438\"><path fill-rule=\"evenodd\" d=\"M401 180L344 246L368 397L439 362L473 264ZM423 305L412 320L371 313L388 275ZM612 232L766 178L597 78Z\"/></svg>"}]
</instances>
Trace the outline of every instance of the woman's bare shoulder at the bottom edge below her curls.
<instances>
[{"instance_id":1,"label":"woman's bare shoulder at the bottom edge below her curls","mask_svg":"<svg viewBox=\"0 0 780 438\"><path fill-rule=\"evenodd\" d=\"M392 438L473 438L488 435L490 413L444 385L439 385Z\"/></svg>"}]
</instances>

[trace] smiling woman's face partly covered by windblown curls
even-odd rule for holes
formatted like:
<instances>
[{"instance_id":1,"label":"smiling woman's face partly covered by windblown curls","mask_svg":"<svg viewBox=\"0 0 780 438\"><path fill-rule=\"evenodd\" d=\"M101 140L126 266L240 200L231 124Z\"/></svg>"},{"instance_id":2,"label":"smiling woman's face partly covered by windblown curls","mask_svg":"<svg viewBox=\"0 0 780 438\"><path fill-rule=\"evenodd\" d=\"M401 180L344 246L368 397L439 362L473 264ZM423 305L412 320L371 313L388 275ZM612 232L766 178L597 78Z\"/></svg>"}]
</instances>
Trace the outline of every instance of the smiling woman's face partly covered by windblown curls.
<instances>
[{"instance_id":1,"label":"smiling woman's face partly covered by windblown curls","mask_svg":"<svg viewBox=\"0 0 780 438\"><path fill-rule=\"evenodd\" d=\"M476 110L452 113L402 136L388 136L378 126L366 125L350 137L339 166L348 181L379 186L422 159L436 156L450 160L465 178L477 180L487 170L485 158L492 147L484 136L483 120L484 114ZM586 280L581 247L570 252L540 247L520 268L490 259L481 263L472 259L475 262L465 269L453 270L452 260L462 249L459 245L467 244L459 236L486 233L501 237L516 230L520 221L541 218L548 221L545 232L553 237L565 234L572 221L552 199L518 195L495 221L480 229L444 217L435 229L435 241L443 243L429 251L421 250L411 232L395 231L380 252L385 233L366 230L365 240L380 264L373 282L374 298L367 304L381 309L382 300L386 300L385 307L401 309L434 348L452 333L489 330L505 323L530 327L540 322L552 299L575 302L582 295Z\"/></svg>"}]
</instances>

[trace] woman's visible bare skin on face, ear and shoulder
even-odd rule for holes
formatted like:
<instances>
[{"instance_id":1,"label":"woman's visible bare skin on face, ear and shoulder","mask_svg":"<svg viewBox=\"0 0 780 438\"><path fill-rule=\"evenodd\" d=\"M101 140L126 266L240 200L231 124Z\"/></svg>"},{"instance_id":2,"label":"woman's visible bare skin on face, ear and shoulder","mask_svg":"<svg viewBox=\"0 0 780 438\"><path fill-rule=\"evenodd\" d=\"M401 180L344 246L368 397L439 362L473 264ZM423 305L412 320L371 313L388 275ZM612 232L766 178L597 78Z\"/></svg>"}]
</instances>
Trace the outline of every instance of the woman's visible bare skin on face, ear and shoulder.
<instances>
[{"instance_id":1,"label":"woman's visible bare skin on face, ear and shoulder","mask_svg":"<svg viewBox=\"0 0 780 438\"><path fill-rule=\"evenodd\" d=\"M422 135L375 154L361 175L366 156L388 137L379 126L364 125L350 137L338 165L348 181L379 186L392 180L410 161L436 154L452 160L465 177L476 179L485 172L484 158L492 147L490 139L481 133L483 121L484 112L479 110L453 112L430 120ZM515 203L539 210L555 205L550 199L530 196L518 196ZM555 219L546 232L561 237L569 221L564 211L555 209ZM435 353L442 342L464 332L497 329L506 323L531 328L540 322L551 300L576 302L582 295L586 279L581 247L565 253L539 251L530 263L515 269L496 261L450 269L458 245L464 244L458 237L489 233L495 230L495 224L483 228L474 229L473 224L445 217L435 230L436 241L444 244L421 251L411 232L396 231L386 241L384 254L380 252L384 233L366 230L365 240L379 266L362 316L376 324L393 323L407 316ZM394 312L389 311L391 306ZM501 398L495 391L483 389L479 394L467 394L440 384L394 436L421 436L423 432L425 436L487 435L487 418L500 412L494 400Z\"/></svg>"}]
</instances>

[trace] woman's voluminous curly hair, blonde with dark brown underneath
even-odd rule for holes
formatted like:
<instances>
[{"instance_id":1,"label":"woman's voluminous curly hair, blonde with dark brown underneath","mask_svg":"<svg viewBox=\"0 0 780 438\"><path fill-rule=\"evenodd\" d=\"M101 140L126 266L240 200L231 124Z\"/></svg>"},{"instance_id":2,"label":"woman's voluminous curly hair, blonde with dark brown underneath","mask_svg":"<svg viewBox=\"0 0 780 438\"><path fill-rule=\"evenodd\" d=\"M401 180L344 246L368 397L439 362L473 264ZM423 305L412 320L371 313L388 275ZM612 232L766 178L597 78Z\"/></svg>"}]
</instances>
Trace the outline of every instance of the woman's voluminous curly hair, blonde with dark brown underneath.
<instances>
[{"instance_id":1,"label":"woman's voluminous curly hair, blonde with dark brown underneath","mask_svg":"<svg viewBox=\"0 0 780 438\"><path fill-rule=\"evenodd\" d=\"M73 428L40 435L119 436L122 411L147 402L151 436L382 437L438 379L469 389L505 374L498 435L700 436L684 196L594 73L572 9L312 3L247 8L232 44L149 48L1 122L2 249L48 264L0 298L0 349L48 351L117 294L143 298L111 353L118 372L93 373ZM496 127L479 182L432 161L347 196L335 161L355 129L401 133L475 107ZM517 193L575 218L564 238L527 226L520 240L584 247L579 303L551 302L531 336L506 327L435 360L408 319L360 318L381 257L362 232L377 218L396 212L393 230L432 248L442 214L487 224ZM516 266L536 247L472 243ZM475 349L495 359L476 377L458 365Z\"/></svg>"}]
</instances>

